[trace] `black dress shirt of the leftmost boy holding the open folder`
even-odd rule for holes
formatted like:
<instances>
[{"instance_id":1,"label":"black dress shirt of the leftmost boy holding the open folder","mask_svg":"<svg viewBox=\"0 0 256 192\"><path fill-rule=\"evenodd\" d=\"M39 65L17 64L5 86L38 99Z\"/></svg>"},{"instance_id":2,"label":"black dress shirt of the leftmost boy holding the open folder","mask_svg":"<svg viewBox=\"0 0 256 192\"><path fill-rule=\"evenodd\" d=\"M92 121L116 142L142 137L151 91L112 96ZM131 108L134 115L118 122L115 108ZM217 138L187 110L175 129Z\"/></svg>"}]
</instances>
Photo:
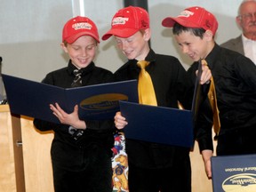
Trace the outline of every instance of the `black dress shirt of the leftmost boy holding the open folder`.
<instances>
[{"instance_id":1,"label":"black dress shirt of the leftmost boy holding the open folder","mask_svg":"<svg viewBox=\"0 0 256 192\"><path fill-rule=\"evenodd\" d=\"M69 60L68 67L60 68L47 74L43 83L69 88L75 78L73 74L74 69L76 69L76 67ZM113 82L113 74L107 69L96 67L93 62L82 70L83 86ZM54 139L52 140L52 161L57 161L60 166L73 171L76 169L79 170L80 165L82 166L82 164L84 164L83 148L87 148L92 143L99 143L100 146L107 148L109 153L111 153L110 149L114 145L113 132L115 126L113 119L86 121L87 128L79 141L71 137L68 132L69 125L67 124L52 124L40 119L35 119L34 124L40 131L54 131ZM74 156L76 157L74 158ZM109 154L109 156L111 156L111 154Z\"/></svg>"}]
</instances>

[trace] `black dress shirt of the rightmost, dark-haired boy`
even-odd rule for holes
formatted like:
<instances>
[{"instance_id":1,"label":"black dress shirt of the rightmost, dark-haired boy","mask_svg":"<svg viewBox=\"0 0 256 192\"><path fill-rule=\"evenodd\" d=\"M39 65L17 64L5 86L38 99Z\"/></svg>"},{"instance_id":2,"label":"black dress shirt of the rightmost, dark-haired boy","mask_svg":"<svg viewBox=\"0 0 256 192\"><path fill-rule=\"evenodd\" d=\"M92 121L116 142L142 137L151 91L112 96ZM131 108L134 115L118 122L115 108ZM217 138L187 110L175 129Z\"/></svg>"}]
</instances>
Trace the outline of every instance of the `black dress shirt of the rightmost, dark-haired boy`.
<instances>
[{"instance_id":1,"label":"black dress shirt of the rightmost, dark-haired boy","mask_svg":"<svg viewBox=\"0 0 256 192\"><path fill-rule=\"evenodd\" d=\"M218 44L205 60L212 70L216 88L220 136L236 131L247 132L251 128L255 130L256 67L252 60ZM198 62L195 62L188 73L195 73L197 66ZM205 124L200 124L197 135L200 150L212 149L212 117L208 115L204 116Z\"/></svg>"}]
</instances>

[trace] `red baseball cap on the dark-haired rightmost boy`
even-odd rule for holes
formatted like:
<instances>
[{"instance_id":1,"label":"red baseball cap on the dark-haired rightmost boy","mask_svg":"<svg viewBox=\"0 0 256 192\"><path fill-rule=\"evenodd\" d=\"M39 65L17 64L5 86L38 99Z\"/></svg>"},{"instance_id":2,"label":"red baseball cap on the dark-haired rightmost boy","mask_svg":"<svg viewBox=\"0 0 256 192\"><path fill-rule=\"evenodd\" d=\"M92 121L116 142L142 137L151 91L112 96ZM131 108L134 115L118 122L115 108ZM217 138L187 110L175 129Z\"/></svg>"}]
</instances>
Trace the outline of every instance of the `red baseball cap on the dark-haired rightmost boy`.
<instances>
[{"instance_id":1,"label":"red baseball cap on the dark-haired rightmost boy","mask_svg":"<svg viewBox=\"0 0 256 192\"><path fill-rule=\"evenodd\" d=\"M180 12L177 17L167 17L162 21L162 25L166 28L172 28L178 22L187 28L204 28L211 30L213 35L218 28L218 21L211 12L206 11L202 7L189 7Z\"/></svg>"}]
</instances>

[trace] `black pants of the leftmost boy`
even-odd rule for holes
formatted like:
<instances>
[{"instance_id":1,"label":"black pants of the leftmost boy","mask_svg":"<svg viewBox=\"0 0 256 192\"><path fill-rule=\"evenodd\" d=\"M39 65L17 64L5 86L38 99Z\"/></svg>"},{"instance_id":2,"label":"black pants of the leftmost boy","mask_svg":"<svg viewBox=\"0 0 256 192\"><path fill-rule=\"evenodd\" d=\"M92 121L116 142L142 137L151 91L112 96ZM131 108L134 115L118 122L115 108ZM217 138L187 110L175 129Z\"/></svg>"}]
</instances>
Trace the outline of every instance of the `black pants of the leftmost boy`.
<instances>
[{"instance_id":1,"label":"black pants of the leftmost boy","mask_svg":"<svg viewBox=\"0 0 256 192\"><path fill-rule=\"evenodd\" d=\"M111 157L106 148L92 145L84 152L84 164L77 170L52 160L55 192L112 192ZM75 159L76 156L73 155Z\"/></svg>"}]
</instances>

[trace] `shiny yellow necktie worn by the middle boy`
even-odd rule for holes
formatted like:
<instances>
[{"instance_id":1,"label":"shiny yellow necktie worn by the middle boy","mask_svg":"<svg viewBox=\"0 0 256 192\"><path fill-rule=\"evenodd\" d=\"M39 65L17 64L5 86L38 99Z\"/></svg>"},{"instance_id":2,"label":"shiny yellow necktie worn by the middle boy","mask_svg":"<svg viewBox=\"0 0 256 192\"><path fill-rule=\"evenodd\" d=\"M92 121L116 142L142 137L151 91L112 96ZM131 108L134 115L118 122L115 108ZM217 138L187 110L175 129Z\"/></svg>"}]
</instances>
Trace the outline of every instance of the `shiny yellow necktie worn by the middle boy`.
<instances>
[{"instance_id":1,"label":"shiny yellow necktie worn by the middle boy","mask_svg":"<svg viewBox=\"0 0 256 192\"><path fill-rule=\"evenodd\" d=\"M139 102L140 104L157 106L154 86L150 75L145 70L149 62L140 60L137 64L141 68L138 82Z\"/></svg>"}]
</instances>

